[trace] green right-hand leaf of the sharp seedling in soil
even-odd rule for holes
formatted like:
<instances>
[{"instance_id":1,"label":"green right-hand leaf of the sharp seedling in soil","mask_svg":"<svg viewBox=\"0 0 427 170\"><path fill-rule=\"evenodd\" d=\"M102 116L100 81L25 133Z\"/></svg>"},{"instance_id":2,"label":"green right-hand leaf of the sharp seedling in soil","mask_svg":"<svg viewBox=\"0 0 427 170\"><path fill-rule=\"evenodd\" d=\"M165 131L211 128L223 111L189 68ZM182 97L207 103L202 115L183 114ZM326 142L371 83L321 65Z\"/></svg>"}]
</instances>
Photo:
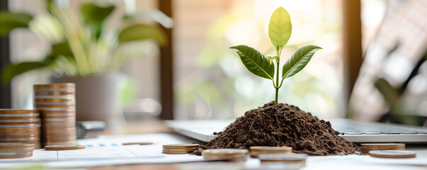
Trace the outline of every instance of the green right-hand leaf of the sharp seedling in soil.
<instances>
[{"instance_id":1,"label":"green right-hand leaf of the sharp seedling in soil","mask_svg":"<svg viewBox=\"0 0 427 170\"><path fill-rule=\"evenodd\" d=\"M300 72L312 59L314 52L320 50L321 47L316 45L306 45L298 49L289 60L283 65L282 80Z\"/></svg>"}]
</instances>

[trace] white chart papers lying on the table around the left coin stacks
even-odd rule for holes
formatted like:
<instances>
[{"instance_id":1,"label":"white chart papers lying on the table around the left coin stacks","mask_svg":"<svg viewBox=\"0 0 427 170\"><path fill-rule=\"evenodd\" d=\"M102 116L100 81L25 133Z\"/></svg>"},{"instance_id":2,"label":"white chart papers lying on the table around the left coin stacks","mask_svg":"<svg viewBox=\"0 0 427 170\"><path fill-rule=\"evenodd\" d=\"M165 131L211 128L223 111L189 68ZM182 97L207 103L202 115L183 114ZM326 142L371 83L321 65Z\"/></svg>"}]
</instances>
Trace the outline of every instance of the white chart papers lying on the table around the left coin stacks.
<instances>
[{"instance_id":1,"label":"white chart papers lying on the table around the left coin stacks","mask_svg":"<svg viewBox=\"0 0 427 170\"><path fill-rule=\"evenodd\" d=\"M153 145L122 145L125 142L153 142ZM23 162L43 162L49 167L81 167L110 164L144 164L171 162L198 162L203 157L190 154L162 154L162 145L193 143L187 137L173 134L115 135L96 139L78 140L86 149L67 151L45 151L35 149L33 157L22 159L0 159L0 169ZM7 163L7 164L6 164Z\"/></svg>"}]
</instances>

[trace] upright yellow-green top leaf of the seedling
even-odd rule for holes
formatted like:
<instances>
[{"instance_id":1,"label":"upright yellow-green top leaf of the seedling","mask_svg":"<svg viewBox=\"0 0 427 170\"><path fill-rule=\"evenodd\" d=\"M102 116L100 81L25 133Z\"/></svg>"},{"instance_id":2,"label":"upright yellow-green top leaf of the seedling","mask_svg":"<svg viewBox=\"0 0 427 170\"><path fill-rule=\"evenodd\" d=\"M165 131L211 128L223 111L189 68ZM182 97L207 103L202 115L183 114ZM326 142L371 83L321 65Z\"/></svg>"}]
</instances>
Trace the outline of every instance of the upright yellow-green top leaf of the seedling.
<instances>
[{"instance_id":1,"label":"upright yellow-green top leaf of the seedling","mask_svg":"<svg viewBox=\"0 0 427 170\"><path fill-rule=\"evenodd\" d=\"M276 50L280 51L285 47L292 33L292 23L290 23L289 13L285 8L277 8L270 18L268 24L268 37Z\"/></svg>"}]
</instances>

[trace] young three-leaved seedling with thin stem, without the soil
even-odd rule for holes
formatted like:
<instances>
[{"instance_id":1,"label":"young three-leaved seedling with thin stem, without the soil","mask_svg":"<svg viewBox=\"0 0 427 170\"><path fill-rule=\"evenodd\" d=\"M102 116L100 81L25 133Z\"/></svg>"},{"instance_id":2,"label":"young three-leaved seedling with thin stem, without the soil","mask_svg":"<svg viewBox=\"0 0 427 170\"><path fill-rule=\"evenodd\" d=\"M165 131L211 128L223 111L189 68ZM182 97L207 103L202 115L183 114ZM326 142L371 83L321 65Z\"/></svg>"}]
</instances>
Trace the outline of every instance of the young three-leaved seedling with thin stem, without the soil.
<instances>
[{"instance_id":1,"label":"young three-leaved seedling with thin stem, without the soil","mask_svg":"<svg viewBox=\"0 0 427 170\"><path fill-rule=\"evenodd\" d=\"M285 62L282 69L282 76L279 77L280 54L289 40L291 32L292 24L290 23L289 13L287 13L285 8L279 7L271 15L270 23L268 24L268 37L270 37L271 43L275 47L275 56L266 57L266 55L258 52L258 50L246 45L230 47L237 52L241 62L243 62L249 72L258 77L273 81L275 104L278 103L279 89L283 84L283 80L292 77L304 69L310 59L312 59L314 52L321 49L321 47L317 47L316 45L301 47ZM275 65L273 64L273 60L275 60Z\"/></svg>"}]
</instances>

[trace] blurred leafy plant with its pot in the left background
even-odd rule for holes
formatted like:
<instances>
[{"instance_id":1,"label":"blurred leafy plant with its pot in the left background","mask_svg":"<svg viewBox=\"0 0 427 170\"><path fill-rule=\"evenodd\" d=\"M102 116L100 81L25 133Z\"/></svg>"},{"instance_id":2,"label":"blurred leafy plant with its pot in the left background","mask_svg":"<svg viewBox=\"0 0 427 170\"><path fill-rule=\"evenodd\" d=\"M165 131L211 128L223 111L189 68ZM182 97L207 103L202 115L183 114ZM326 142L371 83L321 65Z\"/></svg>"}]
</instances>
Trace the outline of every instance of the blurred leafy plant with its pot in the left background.
<instances>
[{"instance_id":1,"label":"blurred leafy plant with its pot in the left background","mask_svg":"<svg viewBox=\"0 0 427 170\"><path fill-rule=\"evenodd\" d=\"M107 22L115 11L113 4L84 3L77 15L71 8L60 8L52 1L46 3L47 11L35 17L0 13L1 35L14 28L30 28L50 43L44 60L9 64L2 72L2 81L11 81L34 69L50 69L56 75L51 78L53 83L76 84L77 120L117 118L121 114L117 70L130 57L144 54L147 43L166 44L166 36L156 26L137 19L150 16L147 12L122 16L115 21L120 24L111 28ZM170 20L164 14L163 17Z\"/></svg>"}]
</instances>

